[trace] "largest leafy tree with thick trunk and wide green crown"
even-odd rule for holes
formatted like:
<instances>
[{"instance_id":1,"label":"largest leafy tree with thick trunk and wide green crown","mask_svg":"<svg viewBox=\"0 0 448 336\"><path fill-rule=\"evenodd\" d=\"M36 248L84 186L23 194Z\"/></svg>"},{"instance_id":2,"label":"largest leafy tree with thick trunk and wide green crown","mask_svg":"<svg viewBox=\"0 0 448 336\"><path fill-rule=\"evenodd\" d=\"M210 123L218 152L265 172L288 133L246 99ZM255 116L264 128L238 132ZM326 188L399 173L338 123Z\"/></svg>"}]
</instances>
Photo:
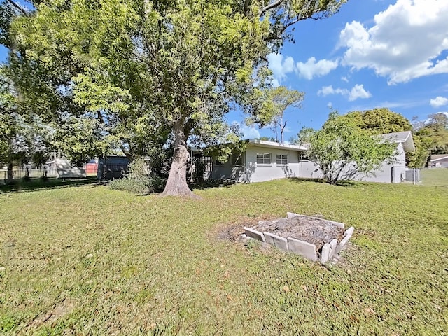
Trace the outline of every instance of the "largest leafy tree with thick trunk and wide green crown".
<instances>
[{"instance_id":1,"label":"largest leafy tree with thick trunk and wide green crown","mask_svg":"<svg viewBox=\"0 0 448 336\"><path fill-rule=\"evenodd\" d=\"M292 37L288 28L345 2L39 1L36 13L13 22L20 52L11 59L63 74L53 91L72 93L114 137L151 142L171 133L164 195L191 195L187 140L236 141L225 113L262 111L267 55Z\"/></svg>"}]
</instances>

